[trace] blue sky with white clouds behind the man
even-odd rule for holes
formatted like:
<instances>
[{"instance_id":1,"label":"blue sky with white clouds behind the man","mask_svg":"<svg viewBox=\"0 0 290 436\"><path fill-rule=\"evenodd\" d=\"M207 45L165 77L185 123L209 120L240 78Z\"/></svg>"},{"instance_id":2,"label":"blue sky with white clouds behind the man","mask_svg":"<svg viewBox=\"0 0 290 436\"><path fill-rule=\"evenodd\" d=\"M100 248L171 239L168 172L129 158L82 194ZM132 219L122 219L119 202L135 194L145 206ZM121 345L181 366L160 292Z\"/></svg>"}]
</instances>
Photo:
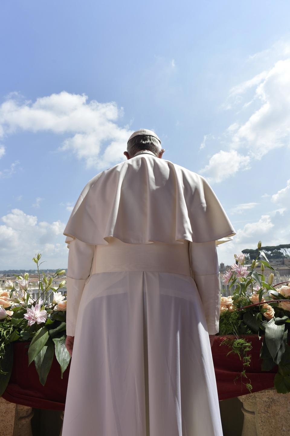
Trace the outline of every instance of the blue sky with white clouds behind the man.
<instances>
[{"instance_id":1,"label":"blue sky with white clouds behind the man","mask_svg":"<svg viewBox=\"0 0 290 436\"><path fill-rule=\"evenodd\" d=\"M290 243L290 3L0 1L0 269L66 268L80 192L154 130L237 232Z\"/></svg>"}]
</instances>

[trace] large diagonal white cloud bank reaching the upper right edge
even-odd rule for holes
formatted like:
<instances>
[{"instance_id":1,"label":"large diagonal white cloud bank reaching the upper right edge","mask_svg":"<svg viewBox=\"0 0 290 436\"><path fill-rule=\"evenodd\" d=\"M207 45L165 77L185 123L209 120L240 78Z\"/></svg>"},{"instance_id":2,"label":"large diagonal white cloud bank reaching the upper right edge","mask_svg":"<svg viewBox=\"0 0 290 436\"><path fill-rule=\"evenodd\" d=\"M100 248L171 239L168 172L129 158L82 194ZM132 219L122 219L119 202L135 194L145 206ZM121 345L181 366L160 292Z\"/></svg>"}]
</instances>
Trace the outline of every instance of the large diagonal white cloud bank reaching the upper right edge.
<instances>
[{"instance_id":1,"label":"large diagonal white cloud bank reaching the upper right edge","mask_svg":"<svg viewBox=\"0 0 290 436\"><path fill-rule=\"evenodd\" d=\"M287 53L286 48L284 46L284 53ZM229 98L237 97L240 103L241 95L254 86L256 89L251 102L257 100L260 108L251 113L246 122L232 123L225 130L223 135L227 138L228 151L215 153L200 171L208 173L212 181L220 182L239 170L249 169L251 160L260 160L271 150L290 144L290 58L277 61L268 72L263 71L235 86L230 90ZM234 156L233 151L240 149L243 155ZM231 165L220 170L217 166L224 161L230 164L231 156Z\"/></svg>"}]
</instances>

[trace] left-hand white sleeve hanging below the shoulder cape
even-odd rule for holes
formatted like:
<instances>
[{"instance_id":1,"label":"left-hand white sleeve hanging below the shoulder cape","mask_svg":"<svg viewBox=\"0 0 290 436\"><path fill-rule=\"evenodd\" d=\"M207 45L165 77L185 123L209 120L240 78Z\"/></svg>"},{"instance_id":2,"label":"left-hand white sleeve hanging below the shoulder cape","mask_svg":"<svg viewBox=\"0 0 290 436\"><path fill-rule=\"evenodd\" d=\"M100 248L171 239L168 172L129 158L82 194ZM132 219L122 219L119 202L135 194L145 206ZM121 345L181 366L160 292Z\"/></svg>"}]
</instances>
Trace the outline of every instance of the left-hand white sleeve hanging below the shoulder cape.
<instances>
[{"instance_id":1,"label":"left-hand white sleeve hanging below the shoulder cape","mask_svg":"<svg viewBox=\"0 0 290 436\"><path fill-rule=\"evenodd\" d=\"M91 273L95 245L70 238L67 261L67 335L74 336L83 288Z\"/></svg>"}]
</instances>

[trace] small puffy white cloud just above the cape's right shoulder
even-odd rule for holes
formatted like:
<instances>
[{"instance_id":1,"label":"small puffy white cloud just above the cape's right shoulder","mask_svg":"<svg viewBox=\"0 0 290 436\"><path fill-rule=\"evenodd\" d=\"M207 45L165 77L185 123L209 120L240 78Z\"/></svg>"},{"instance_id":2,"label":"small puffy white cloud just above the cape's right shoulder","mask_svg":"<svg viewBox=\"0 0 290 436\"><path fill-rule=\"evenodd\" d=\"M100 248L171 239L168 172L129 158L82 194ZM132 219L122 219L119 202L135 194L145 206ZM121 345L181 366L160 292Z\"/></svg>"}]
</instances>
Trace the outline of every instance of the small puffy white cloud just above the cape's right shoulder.
<instances>
[{"instance_id":1,"label":"small puffy white cloud just above the cape's right shoulder","mask_svg":"<svg viewBox=\"0 0 290 436\"><path fill-rule=\"evenodd\" d=\"M243 156L237 153L236 150L223 151L215 153L209 161L209 164L202 168L200 174L206 173L204 176L209 183L221 182L240 169L248 170L250 163L249 156Z\"/></svg>"}]
</instances>

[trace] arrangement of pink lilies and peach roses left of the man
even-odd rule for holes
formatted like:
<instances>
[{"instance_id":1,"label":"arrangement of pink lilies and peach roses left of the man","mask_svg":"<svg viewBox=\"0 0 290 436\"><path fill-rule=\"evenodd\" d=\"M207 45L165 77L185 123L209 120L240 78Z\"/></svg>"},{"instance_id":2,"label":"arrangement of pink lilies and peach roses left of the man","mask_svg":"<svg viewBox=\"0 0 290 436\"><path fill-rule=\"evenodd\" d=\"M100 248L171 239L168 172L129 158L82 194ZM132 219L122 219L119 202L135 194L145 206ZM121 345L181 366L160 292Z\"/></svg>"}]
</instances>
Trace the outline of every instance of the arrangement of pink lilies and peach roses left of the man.
<instances>
[{"instance_id":1,"label":"arrangement of pink lilies and peach roses left of the man","mask_svg":"<svg viewBox=\"0 0 290 436\"><path fill-rule=\"evenodd\" d=\"M12 280L7 280L4 289L0 290L0 396L3 395L10 379L14 341L30 341L28 365L34 361L43 386L54 353L60 364L61 378L70 361L70 354L65 346L67 301L66 295L60 292L66 281L62 280L57 288L52 286L53 279L63 275L65 270L57 269L49 280L42 272L43 277L40 280L40 257L40 253L33 257L39 276L35 300L29 292L32 283L27 272L24 277L13 274L18 279L18 290L15 289Z\"/></svg>"}]
</instances>

